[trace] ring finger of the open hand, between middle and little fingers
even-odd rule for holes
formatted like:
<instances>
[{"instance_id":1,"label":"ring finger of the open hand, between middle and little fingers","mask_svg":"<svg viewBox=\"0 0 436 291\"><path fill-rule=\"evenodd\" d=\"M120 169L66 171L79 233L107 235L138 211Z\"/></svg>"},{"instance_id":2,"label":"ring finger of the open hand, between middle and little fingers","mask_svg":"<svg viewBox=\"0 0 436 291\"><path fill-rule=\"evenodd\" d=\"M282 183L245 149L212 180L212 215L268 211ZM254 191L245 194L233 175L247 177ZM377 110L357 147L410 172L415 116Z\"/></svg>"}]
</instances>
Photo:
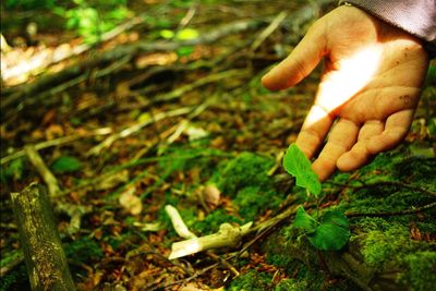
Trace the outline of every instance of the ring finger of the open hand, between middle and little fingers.
<instances>
[{"instance_id":1,"label":"ring finger of the open hand, between middle and little fingers","mask_svg":"<svg viewBox=\"0 0 436 291\"><path fill-rule=\"evenodd\" d=\"M378 120L367 121L359 132L358 143L346 154L339 157L336 166L341 171L353 171L366 165L373 157L367 148L367 142L379 135L385 124Z\"/></svg>"}]
</instances>

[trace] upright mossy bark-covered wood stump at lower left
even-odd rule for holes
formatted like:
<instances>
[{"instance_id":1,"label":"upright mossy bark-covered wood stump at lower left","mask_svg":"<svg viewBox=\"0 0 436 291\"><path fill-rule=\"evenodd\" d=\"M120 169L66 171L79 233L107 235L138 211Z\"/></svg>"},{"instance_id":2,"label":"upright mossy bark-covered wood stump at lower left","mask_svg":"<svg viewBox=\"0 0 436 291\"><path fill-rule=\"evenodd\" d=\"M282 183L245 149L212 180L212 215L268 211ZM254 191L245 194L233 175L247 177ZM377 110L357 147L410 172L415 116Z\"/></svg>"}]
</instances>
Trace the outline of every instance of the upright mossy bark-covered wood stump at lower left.
<instances>
[{"instance_id":1,"label":"upright mossy bark-covered wood stump at lower left","mask_svg":"<svg viewBox=\"0 0 436 291\"><path fill-rule=\"evenodd\" d=\"M11 198L32 290L75 290L46 190L32 183Z\"/></svg>"}]
</instances>

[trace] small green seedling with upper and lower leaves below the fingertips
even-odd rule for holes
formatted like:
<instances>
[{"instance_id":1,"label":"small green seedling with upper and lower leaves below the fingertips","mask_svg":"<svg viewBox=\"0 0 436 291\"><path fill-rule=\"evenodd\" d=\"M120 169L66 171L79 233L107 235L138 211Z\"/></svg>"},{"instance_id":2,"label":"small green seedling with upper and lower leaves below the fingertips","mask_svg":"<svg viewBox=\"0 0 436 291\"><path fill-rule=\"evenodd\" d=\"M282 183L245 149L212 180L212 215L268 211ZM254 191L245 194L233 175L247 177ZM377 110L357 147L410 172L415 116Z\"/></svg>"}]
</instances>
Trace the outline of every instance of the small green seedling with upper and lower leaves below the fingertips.
<instances>
[{"instance_id":1,"label":"small green seedling with upper and lower leaves below the fingertips","mask_svg":"<svg viewBox=\"0 0 436 291\"><path fill-rule=\"evenodd\" d=\"M318 204L320 182L312 170L310 160L295 144L291 144L284 154L283 167L289 174L295 177L296 185L313 194ZM325 213L320 218L313 218L300 206L293 226L303 229L311 244L323 251L339 251L350 238L346 215L335 210Z\"/></svg>"}]
</instances>

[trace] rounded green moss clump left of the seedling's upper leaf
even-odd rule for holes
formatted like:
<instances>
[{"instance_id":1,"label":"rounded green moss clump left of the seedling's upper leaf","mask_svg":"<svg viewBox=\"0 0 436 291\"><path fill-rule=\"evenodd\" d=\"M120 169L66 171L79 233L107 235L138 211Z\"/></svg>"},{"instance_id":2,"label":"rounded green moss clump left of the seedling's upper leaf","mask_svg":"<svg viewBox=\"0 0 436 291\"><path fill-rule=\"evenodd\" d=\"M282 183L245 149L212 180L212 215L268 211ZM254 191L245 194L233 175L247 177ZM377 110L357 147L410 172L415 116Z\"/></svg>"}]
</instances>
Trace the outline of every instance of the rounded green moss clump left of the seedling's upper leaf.
<instances>
[{"instance_id":1,"label":"rounded green moss clump left of the seedling's upper leaf","mask_svg":"<svg viewBox=\"0 0 436 291\"><path fill-rule=\"evenodd\" d=\"M256 186L261 190L272 189L272 180L267 171L272 167L274 159L253 153L242 153L237 158L221 166L215 173L213 182L216 182L223 194L234 197L244 187Z\"/></svg>"}]
</instances>

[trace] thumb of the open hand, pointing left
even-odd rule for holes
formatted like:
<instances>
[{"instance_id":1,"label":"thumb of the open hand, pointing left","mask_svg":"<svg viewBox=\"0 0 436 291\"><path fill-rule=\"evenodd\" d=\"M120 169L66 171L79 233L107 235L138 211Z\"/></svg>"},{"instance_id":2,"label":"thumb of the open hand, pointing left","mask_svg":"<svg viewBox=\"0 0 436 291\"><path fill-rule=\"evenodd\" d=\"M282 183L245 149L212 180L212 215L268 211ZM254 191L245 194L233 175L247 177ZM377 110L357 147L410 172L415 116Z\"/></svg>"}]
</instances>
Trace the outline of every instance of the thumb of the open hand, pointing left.
<instances>
[{"instance_id":1,"label":"thumb of the open hand, pointing left","mask_svg":"<svg viewBox=\"0 0 436 291\"><path fill-rule=\"evenodd\" d=\"M326 52L324 27L314 24L293 49L277 66L262 77L262 84L271 90L284 89L306 77Z\"/></svg>"}]
</instances>

